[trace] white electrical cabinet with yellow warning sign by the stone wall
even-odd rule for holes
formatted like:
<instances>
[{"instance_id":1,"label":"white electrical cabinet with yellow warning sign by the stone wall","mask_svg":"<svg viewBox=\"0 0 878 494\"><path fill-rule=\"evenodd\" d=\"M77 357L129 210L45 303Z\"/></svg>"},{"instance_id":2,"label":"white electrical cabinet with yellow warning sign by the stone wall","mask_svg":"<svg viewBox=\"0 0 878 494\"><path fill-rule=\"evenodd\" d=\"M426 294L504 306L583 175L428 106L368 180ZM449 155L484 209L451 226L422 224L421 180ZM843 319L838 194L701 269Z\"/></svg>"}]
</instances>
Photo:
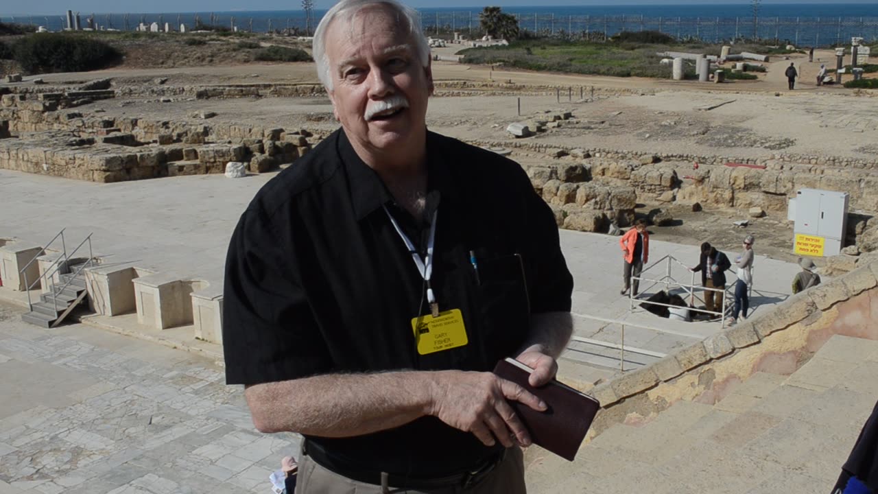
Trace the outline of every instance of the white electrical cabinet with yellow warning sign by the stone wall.
<instances>
[{"instance_id":1,"label":"white electrical cabinet with yellow warning sign by the stone wall","mask_svg":"<svg viewBox=\"0 0 878 494\"><path fill-rule=\"evenodd\" d=\"M790 201L795 216L794 251L802 256L837 256L845 246L848 193L801 189Z\"/></svg>"}]
</instances>

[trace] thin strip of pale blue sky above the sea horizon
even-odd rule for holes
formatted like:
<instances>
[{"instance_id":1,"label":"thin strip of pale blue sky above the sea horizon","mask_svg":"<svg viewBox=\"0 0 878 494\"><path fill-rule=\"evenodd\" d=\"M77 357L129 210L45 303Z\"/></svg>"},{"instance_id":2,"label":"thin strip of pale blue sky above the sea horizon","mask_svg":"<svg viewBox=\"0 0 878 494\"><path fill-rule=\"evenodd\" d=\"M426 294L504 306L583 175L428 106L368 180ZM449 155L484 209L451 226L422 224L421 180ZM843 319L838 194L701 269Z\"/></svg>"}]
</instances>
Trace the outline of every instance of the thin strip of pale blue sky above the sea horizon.
<instances>
[{"instance_id":1,"label":"thin strip of pale blue sky above the sea horizon","mask_svg":"<svg viewBox=\"0 0 878 494\"><path fill-rule=\"evenodd\" d=\"M414 7L463 7L481 8L486 4L522 6L540 4L537 0L404 0ZM846 4L874 4L875 0L844 0ZM552 5L666 5L666 4L719 4L711 0L551 0ZM774 0L762 4L833 4L832 0ZM328 9L334 0L314 0L318 10ZM722 4L750 4L750 0L723 0ZM245 9L241 6L246 5ZM205 11L295 11L301 9L300 0L36 0L34 2L0 1L0 16L32 14L61 16L71 9L97 13L151 13L151 12L205 12Z\"/></svg>"}]
</instances>

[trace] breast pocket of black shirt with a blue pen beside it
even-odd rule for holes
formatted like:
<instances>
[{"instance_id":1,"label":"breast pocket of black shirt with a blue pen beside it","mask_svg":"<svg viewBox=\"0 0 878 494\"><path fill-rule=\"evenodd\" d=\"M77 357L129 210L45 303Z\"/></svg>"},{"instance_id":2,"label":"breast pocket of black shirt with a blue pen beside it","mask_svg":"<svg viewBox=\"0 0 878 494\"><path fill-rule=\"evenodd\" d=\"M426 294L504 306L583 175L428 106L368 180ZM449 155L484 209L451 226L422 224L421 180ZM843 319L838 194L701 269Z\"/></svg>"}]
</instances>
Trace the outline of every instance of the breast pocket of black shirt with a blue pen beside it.
<instances>
[{"instance_id":1,"label":"breast pocket of black shirt with a blue pen beside it","mask_svg":"<svg viewBox=\"0 0 878 494\"><path fill-rule=\"evenodd\" d=\"M479 260L479 319L486 348L499 351L499 358L527 338L530 301L520 255Z\"/></svg>"}]
</instances>

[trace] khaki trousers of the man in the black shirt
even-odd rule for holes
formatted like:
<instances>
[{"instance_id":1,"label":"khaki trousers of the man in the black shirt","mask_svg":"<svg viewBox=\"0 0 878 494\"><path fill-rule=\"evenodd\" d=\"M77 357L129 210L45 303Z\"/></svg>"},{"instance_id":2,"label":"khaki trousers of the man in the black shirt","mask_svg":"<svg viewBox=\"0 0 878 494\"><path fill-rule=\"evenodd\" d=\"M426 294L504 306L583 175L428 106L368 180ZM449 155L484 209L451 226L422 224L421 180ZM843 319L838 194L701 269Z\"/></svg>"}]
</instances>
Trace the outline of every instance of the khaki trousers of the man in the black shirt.
<instances>
[{"instance_id":1,"label":"khaki trousers of the man in the black shirt","mask_svg":"<svg viewBox=\"0 0 878 494\"><path fill-rule=\"evenodd\" d=\"M296 494L526 494L524 485L524 455L520 447L507 449L506 457L481 482L465 489L450 486L435 490L411 490L390 487L383 491L380 485L362 483L324 469L310 456L299 456L299 480Z\"/></svg>"}]
</instances>

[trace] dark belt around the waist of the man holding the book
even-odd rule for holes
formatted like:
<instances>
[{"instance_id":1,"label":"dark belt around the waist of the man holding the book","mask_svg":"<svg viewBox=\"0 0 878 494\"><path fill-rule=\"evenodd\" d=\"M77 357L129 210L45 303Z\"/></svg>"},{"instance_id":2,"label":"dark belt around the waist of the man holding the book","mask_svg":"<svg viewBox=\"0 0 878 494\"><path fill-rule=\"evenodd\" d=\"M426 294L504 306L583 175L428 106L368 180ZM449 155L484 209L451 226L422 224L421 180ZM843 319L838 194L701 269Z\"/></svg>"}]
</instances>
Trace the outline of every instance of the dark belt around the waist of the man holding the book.
<instances>
[{"instance_id":1,"label":"dark belt around the waist of the man holding the book","mask_svg":"<svg viewBox=\"0 0 878 494\"><path fill-rule=\"evenodd\" d=\"M335 472L340 476L348 477L356 482L371 483L373 485L382 485L382 483L386 483L395 488L415 490L442 489L443 487L453 486L461 486L464 489L470 488L485 480L486 476L488 476L493 469L500 464L500 461L503 461L506 457L506 450L504 449L476 469L467 470L457 474L450 474L448 476L423 478L385 474L383 472L356 468L342 468L336 461L331 460L331 454L328 454L323 447L320 447L318 444L309 440L304 440L302 452L310 456L313 461L316 461L317 464L324 469Z\"/></svg>"}]
</instances>

